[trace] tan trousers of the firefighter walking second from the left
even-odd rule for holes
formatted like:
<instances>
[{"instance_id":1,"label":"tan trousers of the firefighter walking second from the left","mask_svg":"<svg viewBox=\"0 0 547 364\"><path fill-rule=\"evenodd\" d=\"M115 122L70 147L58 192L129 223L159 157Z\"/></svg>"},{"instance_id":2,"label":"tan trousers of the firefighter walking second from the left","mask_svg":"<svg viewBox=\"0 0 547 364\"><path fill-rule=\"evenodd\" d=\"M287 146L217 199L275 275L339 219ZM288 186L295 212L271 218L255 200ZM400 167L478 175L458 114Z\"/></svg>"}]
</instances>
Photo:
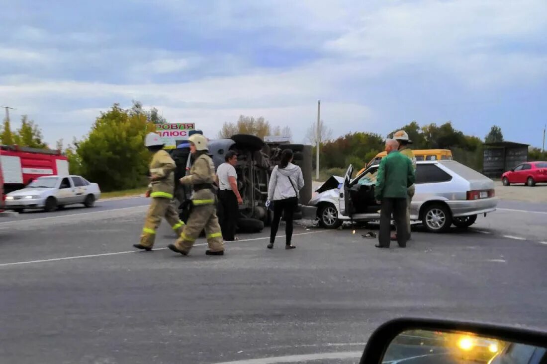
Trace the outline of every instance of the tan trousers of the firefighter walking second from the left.
<instances>
[{"instance_id":1,"label":"tan trousers of the firefighter walking second from the left","mask_svg":"<svg viewBox=\"0 0 547 364\"><path fill-rule=\"evenodd\" d=\"M188 253L203 229L205 229L209 250L224 251L217 208L214 204L192 207L187 224L175 243L177 249Z\"/></svg>"}]
</instances>

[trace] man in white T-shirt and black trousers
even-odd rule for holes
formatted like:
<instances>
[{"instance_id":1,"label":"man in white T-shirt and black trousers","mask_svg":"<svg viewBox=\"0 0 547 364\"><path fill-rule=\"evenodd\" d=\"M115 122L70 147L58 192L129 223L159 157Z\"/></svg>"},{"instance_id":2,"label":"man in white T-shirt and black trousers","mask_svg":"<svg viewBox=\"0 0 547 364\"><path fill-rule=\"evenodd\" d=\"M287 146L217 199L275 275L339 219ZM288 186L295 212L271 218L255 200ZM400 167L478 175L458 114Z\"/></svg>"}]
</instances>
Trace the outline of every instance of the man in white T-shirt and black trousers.
<instances>
[{"instance_id":1,"label":"man in white T-shirt and black trousers","mask_svg":"<svg viewBox=\"0 0 547 364\"><path fill-rule=\"evenodd\" d=\"M225 162L217 168L218 197L220 199L220 206L222 207L220 228L222 229L224 240L231 242L235 240L237 217L239 215L238 205L243 203L243 199L237 190L236 152L232 150L226 152L224 160Z\"/></svg>"}]
</instances>

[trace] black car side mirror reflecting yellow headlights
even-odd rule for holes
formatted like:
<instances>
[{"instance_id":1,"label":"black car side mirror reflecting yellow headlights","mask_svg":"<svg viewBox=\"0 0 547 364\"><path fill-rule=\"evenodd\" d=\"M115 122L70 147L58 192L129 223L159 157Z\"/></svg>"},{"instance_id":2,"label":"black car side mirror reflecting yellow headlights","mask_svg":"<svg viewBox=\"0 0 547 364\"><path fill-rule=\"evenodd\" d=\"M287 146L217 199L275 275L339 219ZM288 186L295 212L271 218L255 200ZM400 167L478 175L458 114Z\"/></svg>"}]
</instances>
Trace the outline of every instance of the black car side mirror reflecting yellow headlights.
<instances>
[{"instance_id":1,"label":"black car side mirror reflecting yellow headlights","mask_svg":"<svg viewBox=\"0 0 547 364\"><path fill-rule=\"evenodd\" d=\"M396 319L372 334L360 363L505 364L542 363L546 359L546 333L456 321Z\"/></svg>"}]
</instances>

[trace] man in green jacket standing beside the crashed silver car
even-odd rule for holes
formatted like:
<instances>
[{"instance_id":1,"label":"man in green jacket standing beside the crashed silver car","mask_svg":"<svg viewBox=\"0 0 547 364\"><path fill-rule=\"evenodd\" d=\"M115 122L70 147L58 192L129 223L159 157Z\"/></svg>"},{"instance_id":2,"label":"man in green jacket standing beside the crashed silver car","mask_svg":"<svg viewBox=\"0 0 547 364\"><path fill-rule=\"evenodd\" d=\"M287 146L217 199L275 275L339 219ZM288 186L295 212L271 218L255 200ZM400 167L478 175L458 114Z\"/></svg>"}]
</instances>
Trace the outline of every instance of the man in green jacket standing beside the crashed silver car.
<instances>
[{"instance_id":1,"label":"man in green jacket standing beside the crashed silver car","mask_svg":"<svg viewBox=\"0 0 547 364\"><path fill-rule=\"evenodd\" d=\"M380 233L377 248L389 248L391 215L397 227L397 243L401 248L406 246L406 200L408 187L414 184L415 174L412 162L397 149L399 143L394 139L386 140L387 156L380 161L376 177L374 196L381 204Z\"/></svg>"}]
</instances>

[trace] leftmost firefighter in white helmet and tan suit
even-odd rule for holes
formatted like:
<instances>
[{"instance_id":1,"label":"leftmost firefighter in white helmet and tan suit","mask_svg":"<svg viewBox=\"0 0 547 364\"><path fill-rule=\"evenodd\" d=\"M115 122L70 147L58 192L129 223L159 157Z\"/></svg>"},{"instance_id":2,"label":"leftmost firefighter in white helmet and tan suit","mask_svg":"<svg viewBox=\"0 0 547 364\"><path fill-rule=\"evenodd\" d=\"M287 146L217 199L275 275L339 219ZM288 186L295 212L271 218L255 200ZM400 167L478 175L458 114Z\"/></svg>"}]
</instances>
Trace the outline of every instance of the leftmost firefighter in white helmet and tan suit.
<instances>
[{"instance_id":1,"label":"leftmost firefighter in white helmet and tan suit","mask_svg":"<svg viewBox=\"0 0 547 364\"><path fill-rule=\"evenodd\" d=\"M144 139L144 146L150 152L154 153L152 162L150 162L150 184L146 191L146 197L152 197L144 227L141 234L141 242L133 244L137 249L152 250L156 238L156 230L161 223L161 218L165 218L173 228L177 236L180 236L183 230L184 222L179 217L177 210L172 204L174 191L175 163L171 156L163 150L164 143L156 133L148 133Z\"/></svg>"}]
</instances>

